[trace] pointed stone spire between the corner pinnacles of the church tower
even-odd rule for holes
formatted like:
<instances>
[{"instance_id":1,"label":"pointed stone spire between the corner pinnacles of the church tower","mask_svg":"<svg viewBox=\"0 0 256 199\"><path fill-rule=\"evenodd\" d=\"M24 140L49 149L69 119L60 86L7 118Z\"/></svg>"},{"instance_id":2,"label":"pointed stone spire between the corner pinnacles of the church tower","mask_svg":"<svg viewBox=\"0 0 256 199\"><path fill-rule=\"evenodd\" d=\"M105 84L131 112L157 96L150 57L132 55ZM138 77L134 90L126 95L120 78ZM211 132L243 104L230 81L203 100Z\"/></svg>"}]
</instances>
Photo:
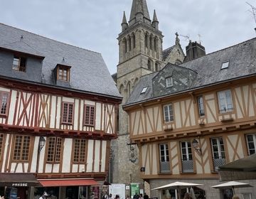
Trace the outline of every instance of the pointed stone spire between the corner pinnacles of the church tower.
<instances>
[{"instance_id":1,"label":"pointed stone spire between the corner pinnacles of the church tower","mask_svg":"<svg viewBox=\"0 0 256 199\"><path fill-rule=\"evenodd\" d=\"M131 15L130 15L129 21L133 21L136 18L138 11L141 11L144 18L147 18L150 21L149 9L146 5L146 0L132 1L132 9L131 9Z\"/></svg>"}]
</instances>

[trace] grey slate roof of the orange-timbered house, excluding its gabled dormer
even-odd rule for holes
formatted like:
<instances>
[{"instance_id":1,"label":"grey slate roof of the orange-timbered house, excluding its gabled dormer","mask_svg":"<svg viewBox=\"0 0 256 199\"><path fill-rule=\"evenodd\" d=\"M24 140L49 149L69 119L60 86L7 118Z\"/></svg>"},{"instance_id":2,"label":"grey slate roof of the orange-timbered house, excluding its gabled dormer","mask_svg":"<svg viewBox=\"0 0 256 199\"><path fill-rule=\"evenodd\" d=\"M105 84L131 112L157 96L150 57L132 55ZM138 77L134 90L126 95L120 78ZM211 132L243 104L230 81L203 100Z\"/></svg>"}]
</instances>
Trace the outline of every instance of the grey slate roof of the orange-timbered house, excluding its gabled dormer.
<instances>
[{"instance_id":1,"label":"grey slate roof of the orange-timbered house, excluding its gabled dormer","mask_svg":"<svg viewBox=\"0 0 256 199\"><path fill-rule=\"evenodd\" d=\"M222 63L226 61L230 62L229 67L221 70ZM169 64L162 70L167 70L168 67L170 67ZM187 68L197 73L196 80L194 80L193 85L188 90L256 75L256 38L218 50L214 53L209 53L201 58L176 65L176 67ZM161 70L159 72L161 72ZM153 96L152 89L148 90L146 95L141 94L143 87L152 87L152 79L154 76L156 76L156 73L145 75L139 80L137 87L134 88L126 104L124 104L124 107L175 94L175 92L171 94L166 92L161 96ZM188 90L179 92L186 92Z\"/></svg>"}]
</instances>

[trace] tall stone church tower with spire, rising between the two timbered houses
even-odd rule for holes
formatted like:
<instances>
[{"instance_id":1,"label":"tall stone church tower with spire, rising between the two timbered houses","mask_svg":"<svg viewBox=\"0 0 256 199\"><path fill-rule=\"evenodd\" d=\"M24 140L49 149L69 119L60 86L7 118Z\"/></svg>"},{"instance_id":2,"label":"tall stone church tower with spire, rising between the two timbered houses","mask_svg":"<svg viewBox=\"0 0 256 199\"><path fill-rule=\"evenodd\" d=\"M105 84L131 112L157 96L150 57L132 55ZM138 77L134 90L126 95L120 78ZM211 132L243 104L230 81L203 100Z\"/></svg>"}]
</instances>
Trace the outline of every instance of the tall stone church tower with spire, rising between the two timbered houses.
<instances>
[{"instance_id":1,"label":"tall stone church tower with spire, rising between the two timbered houses","mask_svg":"<svg viewBox=\"0 0 256 199\"><path fill-rule=\"evenodd\" d=\"M127 22L124 13L122 32L118 36L119 63L117 65L117 88L124 104L134 86L143 75L161 70L166 63L182 63L185 57L178 34L174 46L163 50L163 35L159 31L159 21L154 11L149 16L146 0L133 0L132 10ZM112 182L143 183L140 178L138 162L139 151L129 138L129 124L126 112L119 107L118 139L112 142ZM132 150L131 150L132 149Z\"/></svg>"}]
</instances>

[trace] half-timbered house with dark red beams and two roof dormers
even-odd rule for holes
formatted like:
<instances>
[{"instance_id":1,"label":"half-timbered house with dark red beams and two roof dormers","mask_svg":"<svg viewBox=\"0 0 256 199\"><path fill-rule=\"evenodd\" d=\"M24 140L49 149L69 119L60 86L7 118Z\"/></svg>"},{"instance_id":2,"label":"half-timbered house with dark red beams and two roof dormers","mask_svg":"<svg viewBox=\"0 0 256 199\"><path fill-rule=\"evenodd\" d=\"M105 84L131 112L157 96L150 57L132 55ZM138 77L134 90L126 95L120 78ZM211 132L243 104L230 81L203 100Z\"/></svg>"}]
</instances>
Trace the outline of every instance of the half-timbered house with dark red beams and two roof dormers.
<instances>
[{"instance_id":1,"label":"half-timbered house with dark red beams and two roof dormers","mask_svg":"<svg viewBox=\"0 0 256 199\"><path fill-rule=\"evenodd\" d=\"M100 53L0 23L0 195L99 198L121 100Z\"/></svg>"}]
</instances>

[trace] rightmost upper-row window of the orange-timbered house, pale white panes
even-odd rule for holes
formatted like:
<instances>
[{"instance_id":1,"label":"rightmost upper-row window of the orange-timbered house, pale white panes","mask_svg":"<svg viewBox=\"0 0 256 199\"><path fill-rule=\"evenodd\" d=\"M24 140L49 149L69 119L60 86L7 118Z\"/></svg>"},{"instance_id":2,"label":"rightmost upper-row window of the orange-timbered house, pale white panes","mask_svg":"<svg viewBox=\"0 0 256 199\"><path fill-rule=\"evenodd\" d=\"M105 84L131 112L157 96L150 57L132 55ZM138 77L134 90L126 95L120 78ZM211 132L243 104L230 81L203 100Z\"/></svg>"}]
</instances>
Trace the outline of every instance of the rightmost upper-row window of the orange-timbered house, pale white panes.
<instances>
[{"instance_id":1,"label":"rightmost upper-row window of the orange-timbered house, pale white panes","mask_svg":"<svg viewBox=\"0 0 256 199\"><path fill-rule=\"evenodd\" d=\"M233 102L230 90L218 92L218 102L220 113L233 111Z\"/></svg>"}]
</instances>

